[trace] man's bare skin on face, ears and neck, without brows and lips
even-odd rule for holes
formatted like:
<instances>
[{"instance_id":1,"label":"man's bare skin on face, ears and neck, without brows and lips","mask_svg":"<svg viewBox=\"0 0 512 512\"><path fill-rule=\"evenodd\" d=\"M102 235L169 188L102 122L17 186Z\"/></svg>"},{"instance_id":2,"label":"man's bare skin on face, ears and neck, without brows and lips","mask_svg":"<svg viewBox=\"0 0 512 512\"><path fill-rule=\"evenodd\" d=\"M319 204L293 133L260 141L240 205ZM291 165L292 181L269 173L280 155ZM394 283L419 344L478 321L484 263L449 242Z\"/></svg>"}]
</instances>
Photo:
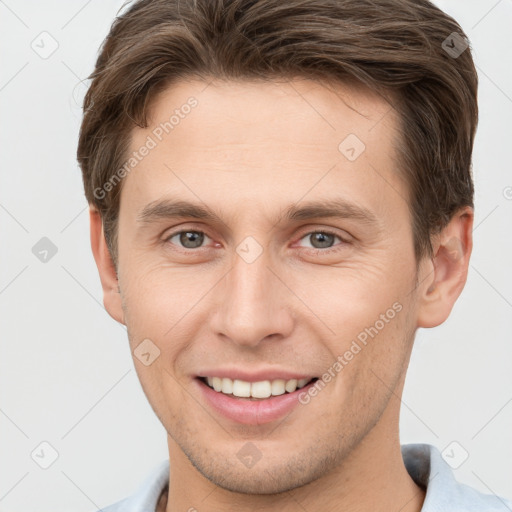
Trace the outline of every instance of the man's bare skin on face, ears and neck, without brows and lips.
<instances>
[{"instance_id":1,"label":"man's bare skin on face, ears and neck, without brows and lips","mask_svg":"<svg viewBox=\"0 0 512 512\"><path fill-rule=\"evenodd\" d=\"M127 326L132 352L147 338L160 350L149 366L134 357L168 433L159 510L419 511L425 493L400 453L400 397L416 329L444 322L464 287L472 210L454 215L417 267L395 111L346 84L182 81L156 98L132 150L190 96L198 105L124 179L118 276L90 213L107 311ZM351 133L366 145L353 162L338 150ZM171 196L217 217L137 220ZM334 198L377 222L283 216L289 205ZM322 246L313 235L326 229L336 236ZM169 238L179 230L205 237L187 248ZM262 249L251 263L236 252L247 236ZM192 385L205 366L321 376L396 302L401 311L284 419L228 420ZM251 468L237 457L248 441L261 454Z\"/></svg>"}]
</instances>

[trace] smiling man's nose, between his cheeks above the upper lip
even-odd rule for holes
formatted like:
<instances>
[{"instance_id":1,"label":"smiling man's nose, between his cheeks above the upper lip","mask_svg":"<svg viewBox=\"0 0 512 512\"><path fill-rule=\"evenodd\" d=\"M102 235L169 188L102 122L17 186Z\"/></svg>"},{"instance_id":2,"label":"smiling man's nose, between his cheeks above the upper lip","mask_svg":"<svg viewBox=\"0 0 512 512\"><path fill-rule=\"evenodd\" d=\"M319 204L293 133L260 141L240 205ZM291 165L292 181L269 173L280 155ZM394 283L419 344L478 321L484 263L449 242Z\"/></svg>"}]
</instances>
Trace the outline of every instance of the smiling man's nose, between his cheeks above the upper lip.
<instances>
[{"instance_id":1,"label":"smiling man's nose, between his cheeks above the upper lip","mask_svg":"<svg viewBox=\"0 0 512 512\"><path fill-rule=\"evenodd\" d=\"M235 254L231 270L215 287L219 307L212 327L217 336L256 347L290 335L294 295L269 263L266 251L250 263Z\"/></svg>"}]
</instances>

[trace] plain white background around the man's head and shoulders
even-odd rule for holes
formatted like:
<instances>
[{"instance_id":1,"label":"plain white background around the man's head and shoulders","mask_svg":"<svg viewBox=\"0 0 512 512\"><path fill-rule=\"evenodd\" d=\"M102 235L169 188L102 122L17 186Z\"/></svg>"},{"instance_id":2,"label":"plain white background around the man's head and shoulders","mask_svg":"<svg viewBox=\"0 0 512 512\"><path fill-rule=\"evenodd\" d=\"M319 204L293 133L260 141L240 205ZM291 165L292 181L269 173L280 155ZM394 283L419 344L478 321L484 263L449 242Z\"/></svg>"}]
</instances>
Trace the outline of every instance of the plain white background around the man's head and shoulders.
<instances>
[{"instance_id":1,"label":"plain white background around the man's head and shoulders","mask_svg":"<svg viewBox=\"0 0 512 512\"><path fill-rule=\"evenodd\" d=\"M102 305L75 160L85 79L122 3L0 1L3 512L95 510L167 457L126 330ZM469 453L457 479L511 498L512 0L437 4L468 34L480 76L475 246L450 319L418 332L401 440L456 441ZM31 48L43 31L58 42L47 59ZM47 263L32 253L42 237L58 249ZM59 454L46 470L30 456L42 441Z\"/></svg>"}]
</instances>

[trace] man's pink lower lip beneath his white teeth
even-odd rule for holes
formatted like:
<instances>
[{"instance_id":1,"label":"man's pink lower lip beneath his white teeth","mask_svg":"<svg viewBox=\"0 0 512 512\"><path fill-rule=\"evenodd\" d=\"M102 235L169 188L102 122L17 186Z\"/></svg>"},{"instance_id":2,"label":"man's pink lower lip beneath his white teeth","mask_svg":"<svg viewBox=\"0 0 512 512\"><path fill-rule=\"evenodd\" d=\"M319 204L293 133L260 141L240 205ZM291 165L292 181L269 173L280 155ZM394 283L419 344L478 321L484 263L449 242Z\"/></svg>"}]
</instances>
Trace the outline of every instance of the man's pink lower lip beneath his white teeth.
<instances>
[{"instance_id":1,"label":"man's pink lower lip beneath his white teeth","mask_svg":"<svg viewBox=\"0 0 512 512\"><path fill-rule=\"evenodd\" d=\"M244 425L261 425L289 414L300 403L299 394L307 392L315 384L310 382L307 386L297 389L293 393L271 396L264 400L249 400L234 398L220 391L215 391L199 378L196 378L195 381L211 408L224 417Z\"/></svg>"}]
</instances>

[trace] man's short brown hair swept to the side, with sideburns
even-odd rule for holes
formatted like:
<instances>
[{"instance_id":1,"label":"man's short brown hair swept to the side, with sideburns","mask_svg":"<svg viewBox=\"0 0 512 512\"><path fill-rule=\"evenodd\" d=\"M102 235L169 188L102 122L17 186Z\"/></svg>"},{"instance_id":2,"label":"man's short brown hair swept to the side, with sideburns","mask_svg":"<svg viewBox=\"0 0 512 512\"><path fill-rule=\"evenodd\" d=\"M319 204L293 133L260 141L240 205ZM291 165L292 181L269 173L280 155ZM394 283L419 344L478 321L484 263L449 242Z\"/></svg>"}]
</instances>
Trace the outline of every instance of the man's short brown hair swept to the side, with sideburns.
<instances>
[{"instance_id":1,"label":"man's short brown hair swept to the side, with sideburns","mask_svg":"<svg viewBox=\"0 0 512 512\"><path fill-rule=\"evenodd\" d=\"M456 42L459 51L468 44L461 27L428 0L135 2L114 20L89 77L77 151L114 264L122 181L103 187L157 93L194 77L357 81L396 97L415 255L432 256L431 235L473 206L478 79L469 48L450 53Z\"/></svg>"}]
</instances>

